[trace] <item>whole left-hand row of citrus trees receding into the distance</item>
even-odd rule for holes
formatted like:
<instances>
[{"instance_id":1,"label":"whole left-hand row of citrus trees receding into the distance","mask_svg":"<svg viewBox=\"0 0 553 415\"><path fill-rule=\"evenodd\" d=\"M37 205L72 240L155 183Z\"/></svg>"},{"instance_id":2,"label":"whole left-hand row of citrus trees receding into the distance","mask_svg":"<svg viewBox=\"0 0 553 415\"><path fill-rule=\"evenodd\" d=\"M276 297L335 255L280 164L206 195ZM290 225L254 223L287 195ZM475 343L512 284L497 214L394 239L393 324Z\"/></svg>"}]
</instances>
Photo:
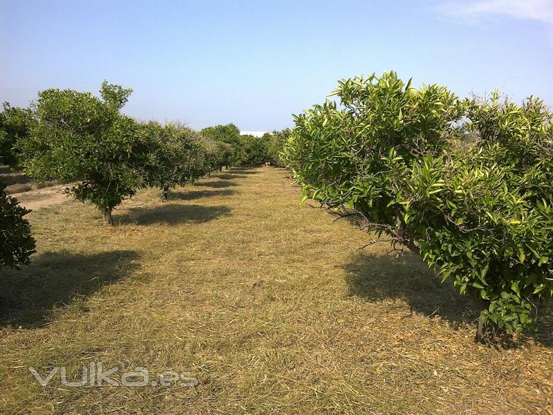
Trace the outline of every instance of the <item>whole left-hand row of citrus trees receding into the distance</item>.
<instances>
[{"instance_id":1,"label":"whole left-hand row of citrus trees receding into the distance","mask_svg":"<svg viewBox=\"0 0 553 415\"><path fill-rule=\"evenodd\" d=\"M41 91L29 109L4 104L0 113L0 165L23 168L37 181L75 183L66 192L95 205L106 225L112 212L142 187L171 188L223 167L269 161L272 135L256 141L233 124L201 132L182 125L136 122L121 113L131 89L104 82L100 97L72 89ZM260 142L262 145L260 145ZM25 264L34 252L28 211L2 185L0 266ZM3 241L4 242L4 241Z\"/></svg>"}]
</instances>

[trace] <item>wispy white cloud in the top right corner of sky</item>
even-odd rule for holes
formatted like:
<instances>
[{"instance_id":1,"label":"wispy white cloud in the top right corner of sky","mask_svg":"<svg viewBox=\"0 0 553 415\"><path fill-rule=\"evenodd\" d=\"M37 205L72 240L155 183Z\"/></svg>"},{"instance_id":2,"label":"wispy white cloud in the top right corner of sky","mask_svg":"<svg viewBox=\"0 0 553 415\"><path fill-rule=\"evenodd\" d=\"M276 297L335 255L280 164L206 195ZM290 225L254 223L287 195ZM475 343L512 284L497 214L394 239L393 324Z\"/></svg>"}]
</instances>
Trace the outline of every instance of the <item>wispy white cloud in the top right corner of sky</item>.
<instances>
[{"instance_id":1,"label":"wispy white cloud in the top right corner of sky","mask_svg":"<svg viewBox=\"0 0 553 415\"><path fill-rule=\"evenodd\" d=\"M437 10L449 17L477 19L503 15L553 25L553 0L478 0L448 1Z\"/></svg>"}]
</instances>

